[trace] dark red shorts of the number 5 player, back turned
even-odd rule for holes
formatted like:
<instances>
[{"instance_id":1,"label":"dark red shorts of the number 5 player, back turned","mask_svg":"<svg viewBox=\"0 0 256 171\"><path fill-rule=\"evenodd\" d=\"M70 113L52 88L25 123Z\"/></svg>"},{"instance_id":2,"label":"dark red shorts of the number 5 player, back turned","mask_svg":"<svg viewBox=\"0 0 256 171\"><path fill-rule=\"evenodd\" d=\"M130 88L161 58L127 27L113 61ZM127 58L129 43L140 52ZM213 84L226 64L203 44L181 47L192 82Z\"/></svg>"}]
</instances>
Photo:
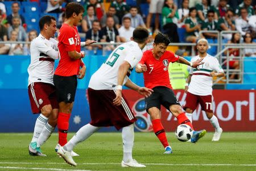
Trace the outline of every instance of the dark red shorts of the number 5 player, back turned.
<instances>
[{"instance_id":1,"label":"dark red shorts of the number 5 player, back turned","mask_svg":"<svg viewBox=\"0 0 256 171\"><path fill-rule=\"evenodd\" d=\"M113 105L114 90L93 90L88 88L90 124L95 127L114 126L117 130L133 124L137 119L122 95L122 105Z\"/></svg>"}]
</instances>

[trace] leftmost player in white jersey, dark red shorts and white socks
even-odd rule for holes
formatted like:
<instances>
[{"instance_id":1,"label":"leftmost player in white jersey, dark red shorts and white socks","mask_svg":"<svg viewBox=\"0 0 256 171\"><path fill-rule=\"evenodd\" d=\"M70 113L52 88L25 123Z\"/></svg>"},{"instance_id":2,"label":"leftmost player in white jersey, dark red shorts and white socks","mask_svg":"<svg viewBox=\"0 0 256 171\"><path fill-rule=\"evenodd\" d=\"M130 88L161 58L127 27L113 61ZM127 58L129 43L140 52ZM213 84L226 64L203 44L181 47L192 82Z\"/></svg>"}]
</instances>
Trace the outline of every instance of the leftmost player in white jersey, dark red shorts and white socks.
<instances>
[{"instance_id":1,"label":"leftmost player in white jersey, dark red shorts and white socks","mask_svg":"<svg viewBox=\"0 0 256 171\"><path fill-rule=\"evenodd\" d=\"M53 85L54 60L59 59L57 41L52 39L57 31L56 19L49 15L43 16L39 20L39 27L40 34L31 41L30 45L28 95L32 112L41 114L36 119L28 152L33 156L46 156L43 155L40 145L55 129L59 112L56 89Z\"/></svg>"}]
</instances>

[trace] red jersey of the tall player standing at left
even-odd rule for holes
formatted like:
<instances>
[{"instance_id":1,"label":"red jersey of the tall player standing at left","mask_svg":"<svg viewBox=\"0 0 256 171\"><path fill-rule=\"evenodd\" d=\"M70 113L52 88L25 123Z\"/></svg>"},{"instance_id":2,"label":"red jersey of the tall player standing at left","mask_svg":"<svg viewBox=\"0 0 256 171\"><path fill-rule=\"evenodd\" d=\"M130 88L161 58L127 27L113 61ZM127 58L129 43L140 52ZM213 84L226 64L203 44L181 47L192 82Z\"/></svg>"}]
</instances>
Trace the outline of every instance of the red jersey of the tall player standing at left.
<instances>
[{"instance_id":1,"label":"red jersey of the tall player standing at left","mask_svg":"<svg viewBox=\"0 0 256 171\"><path fill-rule=\"evenodd\" d=\"M60 61L55 74L58 76L74 76L79 74L80 59L73 60L68 56L68 52L70 51L81 51L81 40L77 28L63 23L60 28L58 40Z\"/></svg>"}]
</instances>

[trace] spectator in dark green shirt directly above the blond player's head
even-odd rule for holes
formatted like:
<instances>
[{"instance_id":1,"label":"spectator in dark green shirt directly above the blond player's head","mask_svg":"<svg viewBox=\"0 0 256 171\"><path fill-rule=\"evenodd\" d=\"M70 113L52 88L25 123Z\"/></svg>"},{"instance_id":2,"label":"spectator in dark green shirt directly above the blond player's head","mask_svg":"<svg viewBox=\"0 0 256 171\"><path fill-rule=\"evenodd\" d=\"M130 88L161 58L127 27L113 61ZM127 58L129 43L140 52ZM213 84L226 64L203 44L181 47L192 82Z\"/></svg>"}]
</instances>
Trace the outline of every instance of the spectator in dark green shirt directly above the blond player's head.
<instances>
[{"instance_id":1,"label":"spectator in dark green shirt directly above the blond player's head","mask_svg":"<svg viewBox=\"0 0 256 171\"><path fill-rule=\"evenodd\" d=\"M207 19L203 23L202 30L217 30L218 28L218 22L213 19L214 17L214 11L209 10L207 12ZM204 33L204 36L207 39L217 39L218 35L214 33Z\"/></svg>"}]
</instances>

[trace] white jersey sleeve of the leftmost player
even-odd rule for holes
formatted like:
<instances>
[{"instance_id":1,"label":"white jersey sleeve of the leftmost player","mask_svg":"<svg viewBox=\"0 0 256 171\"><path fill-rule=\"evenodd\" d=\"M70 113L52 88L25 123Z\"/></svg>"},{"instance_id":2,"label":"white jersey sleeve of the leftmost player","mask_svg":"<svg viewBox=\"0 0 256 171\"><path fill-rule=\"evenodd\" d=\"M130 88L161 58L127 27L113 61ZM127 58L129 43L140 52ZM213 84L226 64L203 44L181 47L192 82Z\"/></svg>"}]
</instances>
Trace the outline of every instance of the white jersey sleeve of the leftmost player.
<instances>
[{"instance_id":1,"label":"white jersey sleeve of the leftmost player","mask_svg":"<svg viewBox=\"0 0 256 171\"><path fill-rule=\"evenodd\" d=\"M36 41L35 45L39 52L48 55L52 59L59 59L59 52L55 51L51 46L43 43L42 41Z\"/></svg>"}]
</instances>

